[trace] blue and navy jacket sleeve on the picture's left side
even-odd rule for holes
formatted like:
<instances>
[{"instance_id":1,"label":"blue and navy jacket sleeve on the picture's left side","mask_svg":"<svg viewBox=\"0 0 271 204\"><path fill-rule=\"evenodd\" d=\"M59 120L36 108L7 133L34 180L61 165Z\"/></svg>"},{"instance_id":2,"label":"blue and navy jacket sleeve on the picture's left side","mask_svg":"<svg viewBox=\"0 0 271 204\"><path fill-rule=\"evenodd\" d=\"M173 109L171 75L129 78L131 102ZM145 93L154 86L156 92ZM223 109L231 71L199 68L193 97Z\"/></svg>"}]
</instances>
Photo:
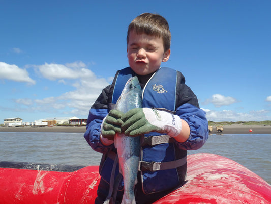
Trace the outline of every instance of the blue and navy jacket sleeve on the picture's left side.
<instances>
[{"instance_id":1,"label":"blue and navy jacket sleeve on the picture's left side","mask_svg":"<svg viewBox=\"0 0 271 204\"><path fill-rule=\"evenodd\" d=\"M108 95L109 95L110 85L103 89L102 93L92 105L91 110L89 110L86 132L84 138L87 143L98 152L105 152L109 149L114 148L113 144L110 146L103 145L100 141L101 124L103 119L108 114Z\"/></svg>"}]
</instances>

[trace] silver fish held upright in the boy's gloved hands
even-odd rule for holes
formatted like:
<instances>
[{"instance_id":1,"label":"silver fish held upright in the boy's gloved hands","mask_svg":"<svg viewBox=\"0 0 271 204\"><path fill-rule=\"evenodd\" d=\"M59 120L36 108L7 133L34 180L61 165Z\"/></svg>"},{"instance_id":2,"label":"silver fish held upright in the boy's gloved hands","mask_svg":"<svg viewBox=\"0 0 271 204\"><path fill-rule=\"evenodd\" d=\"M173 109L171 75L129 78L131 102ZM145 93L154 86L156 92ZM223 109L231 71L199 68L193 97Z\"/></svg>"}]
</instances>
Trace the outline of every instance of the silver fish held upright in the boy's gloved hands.
<instances>
[{"instance_id":1,"label":"silver fish held upright in the boy's gloved hands","mask_svg":"<svg viewBox=\"0 0 271 204\"><path fill-rule=\"evenodd\" d=\"M119 96L115 109L126 113L134 108L142 108L142 90L137 77L131 77ZM119 169L123 174L124 195L122 204L135 204L134 187L137 183L137 171L140 155L140 137L127 137L116 134L115 147L119 160Z\"/></svg>"}]
</instances>

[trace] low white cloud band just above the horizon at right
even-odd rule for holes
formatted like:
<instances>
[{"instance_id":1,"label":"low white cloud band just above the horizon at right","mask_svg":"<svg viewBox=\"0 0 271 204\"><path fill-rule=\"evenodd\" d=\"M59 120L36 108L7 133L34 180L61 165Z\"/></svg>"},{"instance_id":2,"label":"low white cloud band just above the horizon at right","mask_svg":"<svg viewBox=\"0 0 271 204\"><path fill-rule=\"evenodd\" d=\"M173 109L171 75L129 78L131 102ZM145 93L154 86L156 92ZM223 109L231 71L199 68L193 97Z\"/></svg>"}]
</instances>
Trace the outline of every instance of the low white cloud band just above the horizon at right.
<instances>
[{"instance_id":1,"label":"low white cloud band just above the horizon at right","mask_svg":"<svg viewBox=\"0 0 271 204\"><path fill-rule=\"evenodd\" d=\"M232 110L213 111L209 109L202 109L206 112L207 120L220 121L262 121L268 120L270 110L250 111L249 113L237 113Z\"/></svg>"}]
</instances>

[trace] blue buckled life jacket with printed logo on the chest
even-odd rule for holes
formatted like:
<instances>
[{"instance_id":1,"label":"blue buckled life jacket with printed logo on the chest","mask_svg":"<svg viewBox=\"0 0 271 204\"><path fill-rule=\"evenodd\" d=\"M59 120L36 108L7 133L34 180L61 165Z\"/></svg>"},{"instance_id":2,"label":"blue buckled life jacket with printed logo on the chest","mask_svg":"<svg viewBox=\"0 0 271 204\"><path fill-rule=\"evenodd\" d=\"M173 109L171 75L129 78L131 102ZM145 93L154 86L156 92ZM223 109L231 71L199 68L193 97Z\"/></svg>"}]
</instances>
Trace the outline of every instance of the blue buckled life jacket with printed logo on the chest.
<instances>
[{"instance_id":1,"label":"blue buckled life jacket with printed logo on the chest","mask_svg":"<svg viewBox=\"0 0 271 204\"><path fill-rule=\"evenodd\" d=\"M112 104L115 104L118 97L130 77L135 72L127 67L116 74ZM162 67L148 80L143 89L143 107L157 108L174 113L176 109L176 84L178 79L176 70ZM141 175L142 190L145 194L168 190L178 186L185 179L187 151L176 147L174 139L168 135L151 132L142 137L142 150L139 172ZM112 168L112 151L105 156L106 160L101 164L101 176L107 182L110 178L108 169ZM109 167L109 166L110 167ZM118 166L118 165L117 165ZM102 170L104 169L104 170ZM107 172L102 172L106 171ZM118 167L116 169L118 171ZM180 173L181 172L181 173ZM119 190L122 187L119 187Z\"/></svg>"}]
</instances>

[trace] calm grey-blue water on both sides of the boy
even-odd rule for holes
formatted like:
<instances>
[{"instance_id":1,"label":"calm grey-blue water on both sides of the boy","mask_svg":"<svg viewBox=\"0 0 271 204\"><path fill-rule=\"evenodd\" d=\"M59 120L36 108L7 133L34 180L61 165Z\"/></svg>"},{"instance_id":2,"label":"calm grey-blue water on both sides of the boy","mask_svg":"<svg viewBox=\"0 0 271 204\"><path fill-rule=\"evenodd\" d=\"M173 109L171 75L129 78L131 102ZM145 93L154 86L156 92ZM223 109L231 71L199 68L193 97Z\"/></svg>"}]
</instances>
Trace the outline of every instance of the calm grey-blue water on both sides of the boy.
<instances>
[{"instance_id":1,"label":"calm grey-blue water on both sides of the boy","mask_svg":"<svg viewBox=\"0 0 271 204\"><path fill-rule=\"evenodd\" d=\"M199 152L232 159L271 184L271 135L209 135ZM0 161L68 165L99 165L101 154L92 150L83 133L0 132Z\"/></svg>"}]
</instances>

